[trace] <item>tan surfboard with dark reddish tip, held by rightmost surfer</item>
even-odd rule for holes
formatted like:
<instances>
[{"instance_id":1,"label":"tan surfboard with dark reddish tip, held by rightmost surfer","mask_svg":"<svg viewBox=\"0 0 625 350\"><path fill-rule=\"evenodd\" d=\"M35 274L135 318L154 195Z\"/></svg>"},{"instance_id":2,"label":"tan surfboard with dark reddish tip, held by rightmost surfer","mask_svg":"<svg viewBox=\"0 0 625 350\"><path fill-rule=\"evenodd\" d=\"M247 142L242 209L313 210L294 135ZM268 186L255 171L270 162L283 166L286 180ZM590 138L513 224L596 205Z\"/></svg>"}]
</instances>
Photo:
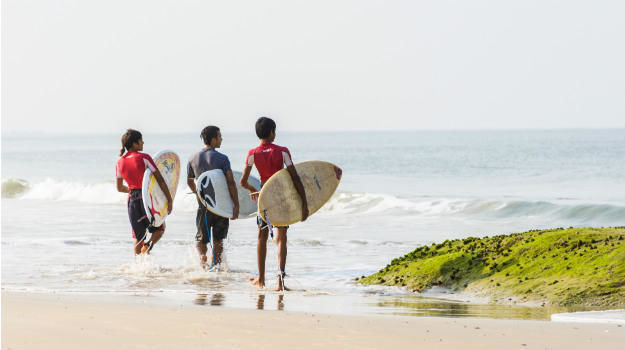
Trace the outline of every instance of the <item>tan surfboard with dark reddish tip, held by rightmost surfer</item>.
<instances>
[{"instance_id":1,"label":"tan surfboard with dark reddish tip, held by rightmost surfer","mask_svg":"<svg viewBox=\"0 0 625 350\"><path fill-rule=\"evenodd\" d=\"M318 160L295 164L308 202L308 216L314 214L332 197L341 181L342 170ZM287 226L302 220L302 200L286 169L273 174L258 197L258 214L273 226Z\"/></svg>"}]
</instances>

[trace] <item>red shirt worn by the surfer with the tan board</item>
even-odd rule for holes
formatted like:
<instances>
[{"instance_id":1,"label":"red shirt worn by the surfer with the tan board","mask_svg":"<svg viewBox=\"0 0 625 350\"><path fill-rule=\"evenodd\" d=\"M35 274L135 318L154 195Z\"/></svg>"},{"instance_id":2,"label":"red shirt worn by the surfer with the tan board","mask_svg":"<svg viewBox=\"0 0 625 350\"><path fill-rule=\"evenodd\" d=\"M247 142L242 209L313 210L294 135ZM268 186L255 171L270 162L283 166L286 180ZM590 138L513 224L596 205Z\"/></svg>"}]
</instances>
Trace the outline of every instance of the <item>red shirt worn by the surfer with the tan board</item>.
<instances>
[{"instance_id":1,"label":"red shirt worn by the surfer with the tan board","mask_svg":"<svg viewBox=\"0 0 625 350\"><path fill-rule=\"evenodd\" d=\"M260 182L265 183L273 174L280 171L283 166L293 165L293 160L288 148L271 142L261 142L260 146L247 152L245 164L247 166L255 164L260 174Z\"/></svg>"}]
</instances>

